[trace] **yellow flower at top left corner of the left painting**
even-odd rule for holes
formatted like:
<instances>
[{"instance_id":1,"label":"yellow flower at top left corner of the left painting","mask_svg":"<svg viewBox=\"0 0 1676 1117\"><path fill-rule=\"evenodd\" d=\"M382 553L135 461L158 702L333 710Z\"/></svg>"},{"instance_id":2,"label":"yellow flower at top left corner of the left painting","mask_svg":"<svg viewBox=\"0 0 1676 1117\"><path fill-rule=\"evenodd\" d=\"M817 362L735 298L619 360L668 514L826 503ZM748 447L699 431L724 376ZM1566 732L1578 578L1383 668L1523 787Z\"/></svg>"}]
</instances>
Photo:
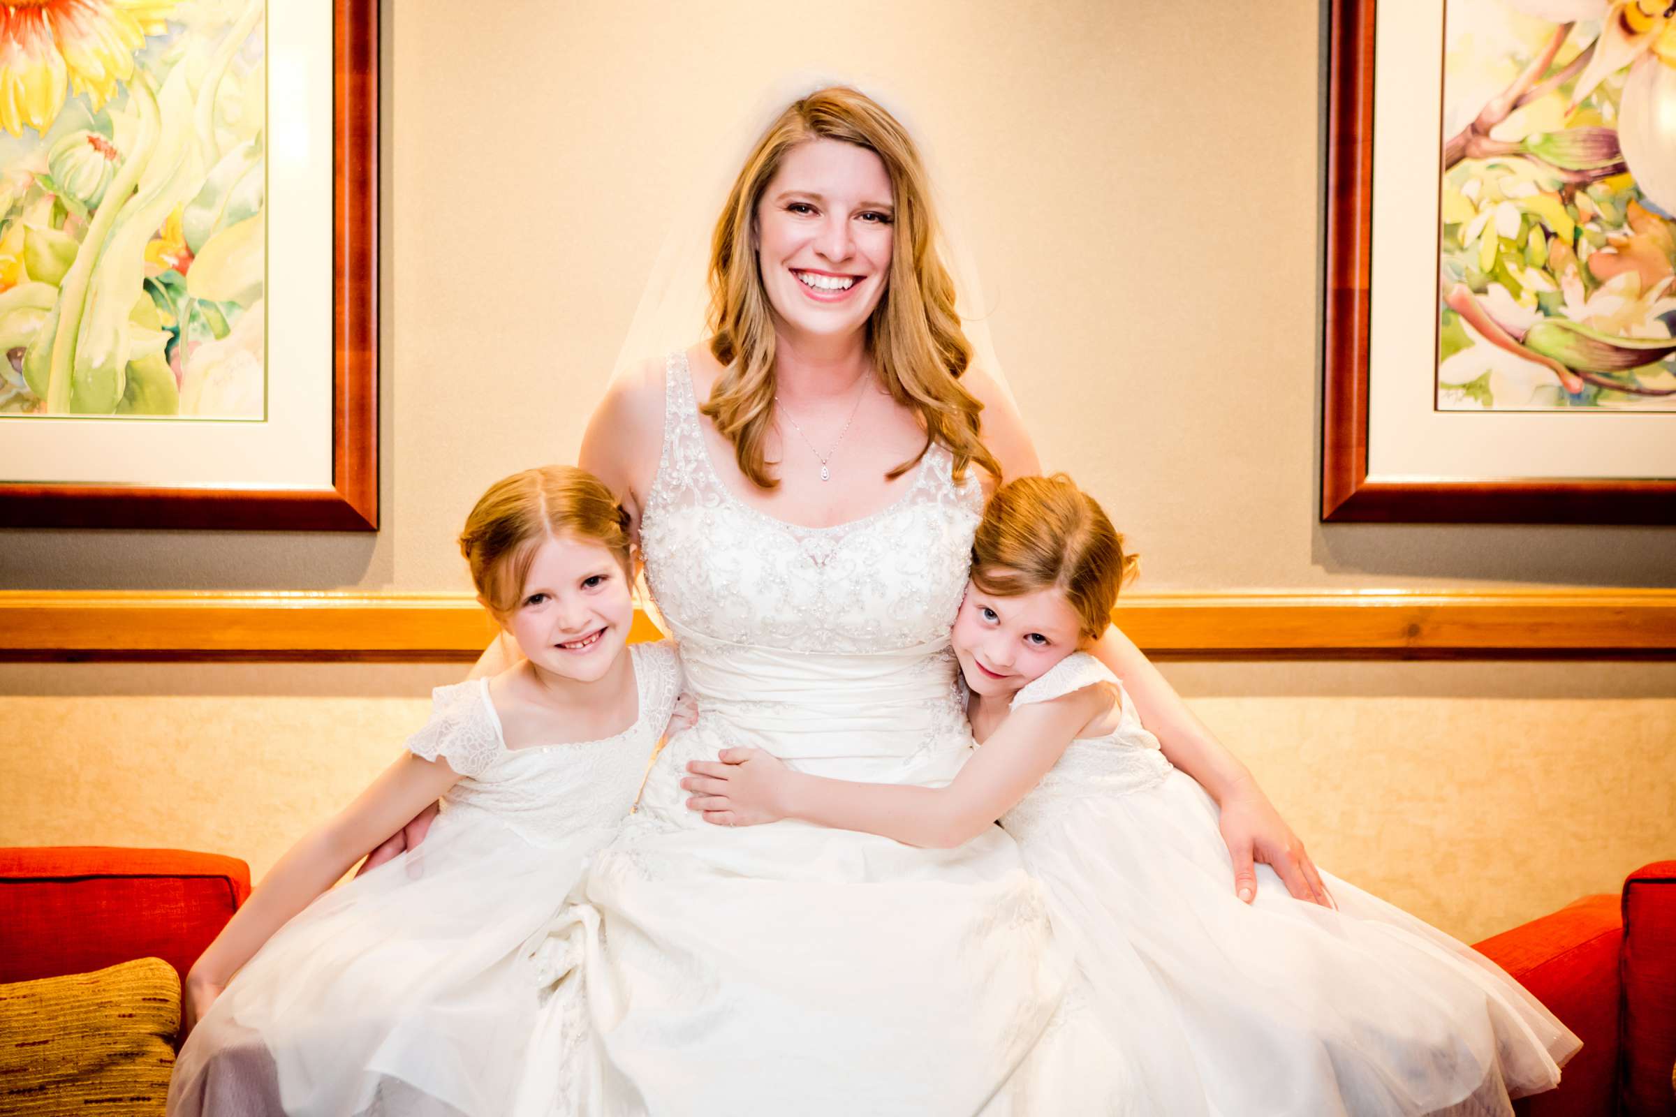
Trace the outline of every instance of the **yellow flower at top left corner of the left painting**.
<instances>
[{"instance_id":1,"label":"yellow flower at top left corner of the left painting","mask_svg":"<svg viewBox=\"0 0 1676 1117\"><path fill-rule=\"evenodd\" d=\"M0 3L0 127L45 132L65 87L97 111L134 75L146 35L166 30L178 0L18 0Z\"/></svg>"}]
</instances>

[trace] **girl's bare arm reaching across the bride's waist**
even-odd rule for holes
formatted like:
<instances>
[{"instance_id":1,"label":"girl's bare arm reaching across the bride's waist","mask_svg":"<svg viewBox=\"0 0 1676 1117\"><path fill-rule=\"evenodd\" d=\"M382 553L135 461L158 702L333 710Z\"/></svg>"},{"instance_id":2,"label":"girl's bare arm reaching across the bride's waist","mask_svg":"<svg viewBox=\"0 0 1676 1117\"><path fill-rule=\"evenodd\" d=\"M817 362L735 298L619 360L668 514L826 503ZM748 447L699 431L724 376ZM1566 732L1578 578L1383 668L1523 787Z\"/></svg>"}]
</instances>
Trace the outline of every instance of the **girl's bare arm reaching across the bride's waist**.
<instances>
[{"instance_id":1,"label":"girl's bare arm reaching across the bride's waist","mask_svg":"<svg viewBox=\"0 0 1676 1117\"><path fill-rule=\"evenodd\" d=\"M947 787L856 784L793 772L759 749L727 749L721 762L694 760L680 785L719 826L803 819L863 831L908 846L949 849L984 832L1024 799L1078 732L1111 708L1108 685L1084 687L1007 713ZM729 762L731 760L731 762Z\"/></svg>"}]
</instances>

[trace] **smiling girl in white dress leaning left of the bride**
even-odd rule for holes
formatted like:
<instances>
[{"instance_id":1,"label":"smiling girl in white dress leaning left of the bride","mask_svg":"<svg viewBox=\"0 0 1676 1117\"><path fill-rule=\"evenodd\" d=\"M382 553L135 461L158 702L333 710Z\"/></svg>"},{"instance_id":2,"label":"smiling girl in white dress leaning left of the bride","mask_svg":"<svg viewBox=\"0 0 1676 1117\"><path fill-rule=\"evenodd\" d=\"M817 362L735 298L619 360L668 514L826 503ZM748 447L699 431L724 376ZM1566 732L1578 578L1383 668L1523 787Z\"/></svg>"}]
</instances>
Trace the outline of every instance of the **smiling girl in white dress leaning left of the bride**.
<instances>
[{"instance_id":1,"label":"smiling girl in white dress leaning left of the bride","mask_svg":"<svg viewBox=\"0 0 1676 1117\"><path fill-rule=\"evenodd\" d=\"M627 646L628 517L592 474L496 482L459 549L521 658L437 687L402 757L203 953L171 1114L545 1117L588 1090L578 983L533 943L627 817L679 667L669 645ZM437 797L422 846L332 888Z\"/></svg>"}]
</instances>

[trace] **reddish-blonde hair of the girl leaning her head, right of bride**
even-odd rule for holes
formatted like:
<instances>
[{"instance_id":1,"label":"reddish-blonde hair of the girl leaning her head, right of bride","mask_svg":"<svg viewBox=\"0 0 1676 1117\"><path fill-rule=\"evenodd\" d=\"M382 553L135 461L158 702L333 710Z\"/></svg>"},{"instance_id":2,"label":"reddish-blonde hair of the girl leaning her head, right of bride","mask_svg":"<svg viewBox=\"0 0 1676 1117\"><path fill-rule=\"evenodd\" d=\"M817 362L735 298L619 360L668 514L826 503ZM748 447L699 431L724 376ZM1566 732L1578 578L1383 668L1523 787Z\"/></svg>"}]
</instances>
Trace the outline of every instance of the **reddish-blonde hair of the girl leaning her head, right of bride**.
<instances>
[{"instance_id":1,"label":"reddish-blonde hair of the girl leaning her head, right of bride","mask_svg":"<svg viewBox=\"0 0 1676 1117\"><path fill-rule=\"evenodd\" d=\"M1140 568L1094 497L1064 474L1017 477L984 507L972 538L972 583L997 598L1058 589L1098 640L1111 623L1118 589Z\"/></svg>"}]
</instances>

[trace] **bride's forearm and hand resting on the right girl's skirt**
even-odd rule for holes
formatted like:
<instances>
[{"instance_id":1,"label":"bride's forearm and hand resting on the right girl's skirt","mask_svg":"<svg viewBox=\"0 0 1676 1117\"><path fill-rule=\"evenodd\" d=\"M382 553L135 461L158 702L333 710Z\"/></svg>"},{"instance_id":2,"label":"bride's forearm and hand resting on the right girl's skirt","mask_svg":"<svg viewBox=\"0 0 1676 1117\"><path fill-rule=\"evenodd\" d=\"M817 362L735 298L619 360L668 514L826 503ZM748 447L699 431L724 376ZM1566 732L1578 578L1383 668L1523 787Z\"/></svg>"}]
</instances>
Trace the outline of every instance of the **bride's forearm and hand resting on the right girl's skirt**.
<instances>
[{"instance_id":1,"label":"bride's forearm and hand resting on the right girl's skirt","mask_svg":"<svg viewBox=\"0 0 1676 1117\"><path fill-rule=\"evenodd\" d=\"M1135 641L1113 625L1093 651L1123 680L1141 723L1158 739L1165 759L1198 780L1222 807L1222 841L1234 856L1234 891L1239 898L1250 903L1257 894L1252 862L1262 861L1274 867L1294 898L1331 908L1327 886L1304 852L1304 842L1269 802L1250 770L1193 717Z\"/></svg>"}]
</instances>

